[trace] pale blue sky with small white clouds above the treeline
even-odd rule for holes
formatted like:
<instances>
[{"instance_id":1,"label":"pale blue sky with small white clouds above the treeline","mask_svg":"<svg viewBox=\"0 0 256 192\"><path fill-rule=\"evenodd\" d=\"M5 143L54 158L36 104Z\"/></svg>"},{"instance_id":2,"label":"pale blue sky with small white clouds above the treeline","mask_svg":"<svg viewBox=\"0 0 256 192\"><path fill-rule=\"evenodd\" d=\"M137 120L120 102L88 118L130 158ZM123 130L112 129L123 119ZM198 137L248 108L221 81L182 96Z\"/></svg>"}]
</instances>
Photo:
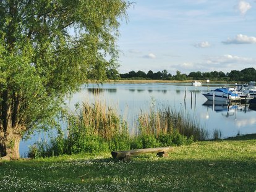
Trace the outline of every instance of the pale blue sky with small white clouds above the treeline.
<instances>
[{"instance_id":1,"label":"pale blue sky with small white clouds above the treeline","mask_svg":"<svg viewBox=\"0 0 256 192\"><path fill-rule=\"evenodd\" d=\"M135 0L117 41L120 73L256 69L256 0Z\"/></svg>"}]
</instances>

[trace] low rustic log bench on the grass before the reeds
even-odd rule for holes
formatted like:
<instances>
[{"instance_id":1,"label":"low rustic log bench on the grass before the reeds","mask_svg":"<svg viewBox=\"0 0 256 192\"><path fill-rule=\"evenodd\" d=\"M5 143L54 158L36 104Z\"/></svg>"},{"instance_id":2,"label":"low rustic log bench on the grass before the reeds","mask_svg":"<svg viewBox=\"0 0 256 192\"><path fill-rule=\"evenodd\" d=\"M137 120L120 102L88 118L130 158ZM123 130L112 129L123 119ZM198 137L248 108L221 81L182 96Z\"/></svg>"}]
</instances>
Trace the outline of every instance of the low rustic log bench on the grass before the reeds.
<instances>
[{"instance_id":1,"label":"low rustic log bench on the grass before the reeds","mask_svg":"<svg viewBox=\"0 0 256 192\"><path fill-rule=\"evenodd\" d=\"M168 151L173 151L172 147L164 147L164 148L147 148L147 149L134 149L129 151L112 151L112 157L114 159L128 161L130 156L134 156L137 154L143 153L157 153L159 157L168 157Z\"/></svg>"}]
</instances>

